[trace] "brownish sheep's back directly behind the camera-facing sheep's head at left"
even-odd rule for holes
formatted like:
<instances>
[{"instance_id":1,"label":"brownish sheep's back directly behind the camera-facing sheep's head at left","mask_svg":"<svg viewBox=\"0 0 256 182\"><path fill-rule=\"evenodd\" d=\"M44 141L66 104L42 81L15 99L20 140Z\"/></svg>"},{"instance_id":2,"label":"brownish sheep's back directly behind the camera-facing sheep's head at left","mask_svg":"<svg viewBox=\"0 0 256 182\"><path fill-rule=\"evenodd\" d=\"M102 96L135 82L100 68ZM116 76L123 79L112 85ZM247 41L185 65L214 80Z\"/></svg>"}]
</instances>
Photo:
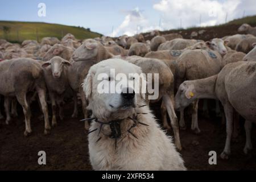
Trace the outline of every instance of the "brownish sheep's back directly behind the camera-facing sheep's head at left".
<instances>
[{"instance_id":1,"label":"brownish sheep's back directly behind the camera-facing sheep's head at left","mask_svg":"<svg viewBox=\"0 0 256 182\"><path fill-rule=\"evenodd\" d=\"M55 44L46 52L46 55L44 55L43 60L48 61L52 59L52 57L54 56L60 56L65 60L69 60L71 59L73 51L74 50L70 47L66 47L61 44Z\"/></svg>"}]
</instances>

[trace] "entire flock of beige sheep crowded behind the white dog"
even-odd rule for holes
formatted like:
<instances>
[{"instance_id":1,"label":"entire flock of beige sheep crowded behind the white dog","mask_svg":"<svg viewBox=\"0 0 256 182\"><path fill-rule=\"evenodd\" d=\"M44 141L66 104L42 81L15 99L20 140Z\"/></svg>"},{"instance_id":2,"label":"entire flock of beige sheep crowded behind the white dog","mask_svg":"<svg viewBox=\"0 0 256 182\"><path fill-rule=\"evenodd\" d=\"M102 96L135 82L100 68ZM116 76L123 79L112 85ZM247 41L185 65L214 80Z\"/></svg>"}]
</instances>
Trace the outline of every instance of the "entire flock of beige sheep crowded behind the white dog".
<instances>
[{"instance_id":1,"label":"entire flock of beige sheep crowded behind the white dog","mask_svg":"<svg viewBox=\"0 0 256 182\"><path fill-rule=\"evenodd\" d=\"M163 127L174 130L177 149L181 150L179 128L185 128L184 108L192 103L192 125L200 133L197 108L201 98L213 98L224 107L226 144L221 158L230 155L233 113L246 119L244 152L252 148L251 122L256 121L256 28L243 24L236 34L210 41L183 39L179 34L160 35L155 30L145 41L142 34L77 40L72 34L63 39L43 38L40 43L24 40L21 45L0 40L0 94L4 96L6 124L16 117L16 101L23 108L29 135L30 104L38 101L44 114L44 133L51 126L47 101L51 102L52 126L63 119L64 97L73 97L72 117L78 115L78 100L82 102L84 118L88 105L82 83L90 67L102 60L118 57L142 68L143 73L159 73L159 97L147 104L162 100L160 111ZM245 33L245 34L244 34ZM37 93L37 94L36 94ZM38 96L38 97L37 97ZM218 106L218 102L216 102ZM204 110L207 111L207 101ZM59 117L56 111L59 108ZM176 113L180 111L178 122ZM171 126L167 122L170 117ZM3 119L0 111L0 119ZM88 129L88 122L85 129Z\"/></svg>"}]
</instances>

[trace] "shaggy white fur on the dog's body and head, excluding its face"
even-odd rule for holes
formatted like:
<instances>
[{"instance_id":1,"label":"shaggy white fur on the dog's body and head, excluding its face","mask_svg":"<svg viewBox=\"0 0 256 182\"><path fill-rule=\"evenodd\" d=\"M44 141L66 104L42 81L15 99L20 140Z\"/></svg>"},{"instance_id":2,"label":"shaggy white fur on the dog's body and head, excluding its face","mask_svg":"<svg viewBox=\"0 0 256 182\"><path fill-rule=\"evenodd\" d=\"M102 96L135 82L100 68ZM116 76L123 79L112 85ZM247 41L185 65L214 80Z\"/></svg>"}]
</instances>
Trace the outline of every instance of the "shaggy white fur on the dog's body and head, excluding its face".
<instances>
[{"instance_id":1,"label":"shaggy white fur on the dog's body and head, excluding its face","mask_svg":"<svg viewBox=\"0 0 256 182\"><path fill-rule=\"evenodd\" d=\"M118 73L141 73L141 68L134 64L127 63L121 59L109 59L93 65L85 78L83 89L89 100L88 109L92 110L93 116L102 122L122 119L121 137L117 140L109 138L110 127L103 125L101 133L90 133L89 155L93 169L96 170L185 170L183 159L176 151L172 139L167 137L163 130L156 123L154 115L151 114L147 106L129 107L122 109L121 101L118 107L108 106L109 101L106 98L118 99L113 94L99 94L97 92L97 75L99 73L108 73L109 69L115 69ZM135 105L144 105L141 94L135 94ZM146 123L144 126L138 123L131 129L133 137L127 130L133 125L133 117L137 113L137 120ZM99 128L100 124L92 122L90 130ZM98 142L97 139L101 137Z\"/></svg>"}]
</instances>

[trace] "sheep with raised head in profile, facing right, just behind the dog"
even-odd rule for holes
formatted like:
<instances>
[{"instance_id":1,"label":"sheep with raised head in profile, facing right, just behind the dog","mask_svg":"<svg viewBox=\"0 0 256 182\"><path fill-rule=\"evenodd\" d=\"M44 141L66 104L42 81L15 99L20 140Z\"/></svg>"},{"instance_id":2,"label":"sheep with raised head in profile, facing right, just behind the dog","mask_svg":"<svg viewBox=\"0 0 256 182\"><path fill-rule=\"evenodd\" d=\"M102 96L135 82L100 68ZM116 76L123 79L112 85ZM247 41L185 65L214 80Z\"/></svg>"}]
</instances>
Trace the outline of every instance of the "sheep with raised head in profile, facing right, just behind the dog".
<instances>
[{"instance_id":1,"label":"sheep with raised head in profile, facing right, just behind the dog","mask_svg":"<svg viewBox=\"0 0 256 182\"><path fill-rule=\"evenodd\" d=\"M82 100L82 110L84 117L88 117L86 110L86 98L82 90L82 82L86 77L90 67L102 60L110 59L113 55L106 51L106 48L99 42L93 39L85 40L82 45L73 52L72 55L72 67L68 69L68 81L74 93L80 93ZM74 111L72 117L77 115L77 98L74 94ZM85 122L85 130L89 129L89 125Z\"/></svg>"}]
</instances>

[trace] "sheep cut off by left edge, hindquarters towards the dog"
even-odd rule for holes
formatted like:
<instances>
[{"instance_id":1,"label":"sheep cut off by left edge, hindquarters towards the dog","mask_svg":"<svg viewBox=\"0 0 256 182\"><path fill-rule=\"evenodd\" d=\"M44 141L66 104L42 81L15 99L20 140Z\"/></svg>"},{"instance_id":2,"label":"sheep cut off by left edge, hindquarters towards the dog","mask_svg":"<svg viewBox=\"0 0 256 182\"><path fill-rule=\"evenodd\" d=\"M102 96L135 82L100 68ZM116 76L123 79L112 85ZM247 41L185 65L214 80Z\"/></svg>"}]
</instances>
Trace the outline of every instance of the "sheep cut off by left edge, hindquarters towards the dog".
<instances>
[{"instance_id":1,"label":"sheep cut off by left edge, hindquarters towards the dog","mask_svg":"<svg viewBox=\"0 0 256 182\"><path fill-rule=\"evenodd\" d=\"M8 81L6 82L6 80ZM49 134L51 127L49 126L48 108L46 104L46 84L41 65L37 61L29 58L1 61L0 83L0 94L5 96L6 123L8 124L8 119L10 119L10 98L16 97L19 104L23 107L25 116L26 130L24 131L24 135L28 136L31 134L31 111L27 93L36 90L44 114L44 134Z\"/></svg>"}]
</instances>

